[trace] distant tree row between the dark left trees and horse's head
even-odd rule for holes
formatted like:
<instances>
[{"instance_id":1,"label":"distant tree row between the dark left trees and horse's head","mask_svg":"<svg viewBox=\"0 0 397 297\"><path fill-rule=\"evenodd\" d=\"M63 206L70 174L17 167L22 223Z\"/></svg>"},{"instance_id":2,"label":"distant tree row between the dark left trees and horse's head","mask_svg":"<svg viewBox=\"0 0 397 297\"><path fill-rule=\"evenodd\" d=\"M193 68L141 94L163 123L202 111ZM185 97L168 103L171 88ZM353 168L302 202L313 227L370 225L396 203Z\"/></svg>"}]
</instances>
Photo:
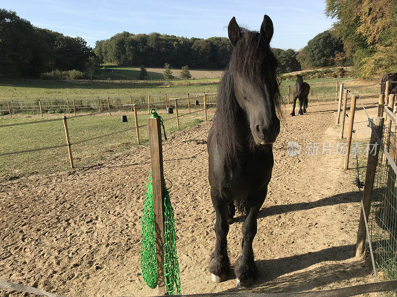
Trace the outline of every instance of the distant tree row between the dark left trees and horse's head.
<instances>
[{"instance_id":1,"label":"distant tree row between the dark left trees and horse's head","mask_svg":"<svg viewBox=\"0 0 397 297\"><path fill-rule=\"evenodd\" d=\"M110 39L97 41L95 54L104 62L117 65L145 65L191 68L224 68L232 45L225 37L186 38L159 33L122 32Z\"/></svg>"}]
</instances>

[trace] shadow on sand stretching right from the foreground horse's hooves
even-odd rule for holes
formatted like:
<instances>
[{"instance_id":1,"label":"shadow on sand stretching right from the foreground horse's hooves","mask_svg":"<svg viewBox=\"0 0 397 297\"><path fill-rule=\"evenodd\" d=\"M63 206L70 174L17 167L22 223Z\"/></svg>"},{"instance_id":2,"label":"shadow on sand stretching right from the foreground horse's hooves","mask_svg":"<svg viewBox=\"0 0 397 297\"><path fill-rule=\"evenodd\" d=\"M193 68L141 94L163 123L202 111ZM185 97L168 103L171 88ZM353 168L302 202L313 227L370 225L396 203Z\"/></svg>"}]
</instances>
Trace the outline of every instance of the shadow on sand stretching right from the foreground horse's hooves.
<instances>
[{"instance_id":1,"label":"shadow on sand stretching right from the foreground horse's hooves","mask_svg":"<svg viewBox=\"0 0 397 297\"><path fill-rule=\"evenodd\" d=\"M232 288L224 292L299 292L369 275L371 271L362 259L321 265L325 261L344 261L354 257L355 246L345 245L278 259L258 260L255 263L259 276L252 287ZM311 266L314 267L309 268Z\"/></svg>"}]
</instances>

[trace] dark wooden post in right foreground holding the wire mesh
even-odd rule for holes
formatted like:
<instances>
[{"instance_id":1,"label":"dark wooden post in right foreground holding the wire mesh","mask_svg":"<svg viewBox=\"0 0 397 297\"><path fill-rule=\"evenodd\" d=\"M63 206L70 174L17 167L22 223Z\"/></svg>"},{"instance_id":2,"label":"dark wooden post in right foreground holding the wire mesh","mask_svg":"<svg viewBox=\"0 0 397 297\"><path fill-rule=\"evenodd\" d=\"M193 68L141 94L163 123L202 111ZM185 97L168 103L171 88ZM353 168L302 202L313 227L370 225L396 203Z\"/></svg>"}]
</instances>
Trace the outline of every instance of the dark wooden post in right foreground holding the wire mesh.
<instances>
[{"instance_id":1,"label":"dark wooden post in right foreground holding the wire mesh","mask_svg":"<svg viewBox=\"0 0 397 297\"><path fill-rule=\"evenodd\" d=\"M382 139L384 120L385 119L383 117L375 117L372 124L373 130L371 133L370 146L374 147L375 151L372 154L368 154L367 171L365 174L365 185L364 185L364 193L362 198L364 204L365 216L367 220L371 207L371 192L372 189L374 188L376 165L378 163L378 155L380 149L378 141L376 140L375 137L375 131L376 134L378 134L379 138ZM356 257L361 256L362 253L364 252L366 235L367 233L365 228L364 214L361 208L360 222L358 224L358 232L357 232Z\"/></svg>"}]
</instances>

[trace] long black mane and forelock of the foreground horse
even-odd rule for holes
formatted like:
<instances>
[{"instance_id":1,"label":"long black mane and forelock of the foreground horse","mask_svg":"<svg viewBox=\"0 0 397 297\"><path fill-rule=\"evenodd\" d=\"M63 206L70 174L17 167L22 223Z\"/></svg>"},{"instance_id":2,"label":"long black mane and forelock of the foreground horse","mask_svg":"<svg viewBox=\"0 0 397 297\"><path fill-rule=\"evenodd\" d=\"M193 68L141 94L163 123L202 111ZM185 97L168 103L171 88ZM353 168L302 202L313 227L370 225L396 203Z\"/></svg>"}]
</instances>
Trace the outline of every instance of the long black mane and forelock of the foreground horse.
<instances>
[{"instance_id":1,"label":"long black mane and forelock of the foreground horse","mask_svg":"<svg viewBox=\"0 0 397 297\"><path fill-rule=\"evenodd\" d=\"M261 35L256 31L240 28L242 38L237 42L232 51L230 62L219 84L216 116L218 144L224 146L227 163L235 160L237 153L237 133L241 131L242 124L238 119L245 119L246 113L237 103L233 75L239 74L252 85L259 87L266 97L273 100L280 113L280 93L278 89L276 68L277 59L268 43L261 40ZM244 120L245 124L247 119ZM250 133L252 138L252 134ZM250 145L251 139L247 139Z\"/></svg>"}]
</instances>

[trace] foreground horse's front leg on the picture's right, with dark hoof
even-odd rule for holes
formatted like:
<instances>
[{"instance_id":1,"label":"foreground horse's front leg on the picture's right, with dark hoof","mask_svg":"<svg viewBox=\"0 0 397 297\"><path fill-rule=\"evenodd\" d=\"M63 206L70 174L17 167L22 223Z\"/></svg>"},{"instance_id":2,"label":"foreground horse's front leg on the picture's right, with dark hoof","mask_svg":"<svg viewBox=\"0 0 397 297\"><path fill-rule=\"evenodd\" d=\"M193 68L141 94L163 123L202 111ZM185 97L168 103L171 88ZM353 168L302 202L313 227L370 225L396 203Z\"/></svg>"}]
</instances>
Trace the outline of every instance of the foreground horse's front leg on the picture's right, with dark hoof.
<instances>
[{"instance_id":1,"label":"foreground horse's front leg on the picture's right, with dark hoof","mask_svg":"<svg viewBox=\"0 0 397 297\"><path fill-rule=\"evenodd\" d=\"M253 198L253 200L250 200L246 206L247 217L243 223L243 227L241 228L243 233L243 247L234 269L237 278L237 286L239 287L251 286L257 275L252 242L255 235L257 235L258 213L265 201L266 193L267 187L263 197L258 196Z\"/></svg>"}]
</instances>

